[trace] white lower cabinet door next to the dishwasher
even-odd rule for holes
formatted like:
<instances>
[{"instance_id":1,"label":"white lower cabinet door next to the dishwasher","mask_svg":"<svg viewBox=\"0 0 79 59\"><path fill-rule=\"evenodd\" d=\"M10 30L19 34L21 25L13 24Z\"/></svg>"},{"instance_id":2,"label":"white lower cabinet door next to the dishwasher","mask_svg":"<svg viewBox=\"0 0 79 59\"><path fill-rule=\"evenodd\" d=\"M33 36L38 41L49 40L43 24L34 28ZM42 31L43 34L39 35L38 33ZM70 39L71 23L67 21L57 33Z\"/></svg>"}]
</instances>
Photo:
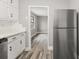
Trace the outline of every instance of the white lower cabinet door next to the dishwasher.
<instances>
[{"instance_id":1,"label":"white lower cabinet door next to the dishwasher","mask_svg":"<svg viewBox=\"0 0 79 59\"><path fill-rule=\"evenodd\" d=\"M19 39L14 40L10 44L8 44L8 59L16 59L20 54L20 44Z\"/></svg>"}]
</instances>

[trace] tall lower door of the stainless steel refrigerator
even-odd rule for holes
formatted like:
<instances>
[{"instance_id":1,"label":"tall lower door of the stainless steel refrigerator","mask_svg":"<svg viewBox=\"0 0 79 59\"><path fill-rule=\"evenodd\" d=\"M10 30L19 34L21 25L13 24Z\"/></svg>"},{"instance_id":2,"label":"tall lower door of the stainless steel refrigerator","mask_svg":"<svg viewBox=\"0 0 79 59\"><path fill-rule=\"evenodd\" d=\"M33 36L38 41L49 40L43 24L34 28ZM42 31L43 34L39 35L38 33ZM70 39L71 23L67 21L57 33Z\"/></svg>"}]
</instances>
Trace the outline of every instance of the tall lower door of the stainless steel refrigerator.
<instances>
[{"instance_id":1,"label":"tall lower door of the stainless steel refrigerator","mask_svg":"<svg viewBox=\"0 0 79 59\"><path fill-rule=\"evenodd\" d=\"M76 29L55 29L54 59L76 59Z\"/></svg>"}]
</instances>

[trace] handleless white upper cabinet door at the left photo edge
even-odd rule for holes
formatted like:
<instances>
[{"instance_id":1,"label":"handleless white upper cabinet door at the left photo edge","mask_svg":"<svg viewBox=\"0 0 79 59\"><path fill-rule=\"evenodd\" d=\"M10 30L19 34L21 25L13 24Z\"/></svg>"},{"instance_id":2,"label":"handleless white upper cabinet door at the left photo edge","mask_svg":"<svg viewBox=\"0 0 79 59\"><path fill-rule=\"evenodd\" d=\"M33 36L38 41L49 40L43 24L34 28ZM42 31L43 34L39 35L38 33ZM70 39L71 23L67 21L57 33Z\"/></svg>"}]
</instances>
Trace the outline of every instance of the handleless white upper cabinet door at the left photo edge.
<instances>
[{"instance_id":1,"label":"handleless white upper cabinet door at the left photo edge","mask_svg":"<svg viewBox=\"0 0 79 59\"><path fill-rule=\"evenodd\" d=\"M8 5L6 5L3 2L0 2L0 20L6 20L9 19L9 10Z\"/></svg>"}]
</instances>

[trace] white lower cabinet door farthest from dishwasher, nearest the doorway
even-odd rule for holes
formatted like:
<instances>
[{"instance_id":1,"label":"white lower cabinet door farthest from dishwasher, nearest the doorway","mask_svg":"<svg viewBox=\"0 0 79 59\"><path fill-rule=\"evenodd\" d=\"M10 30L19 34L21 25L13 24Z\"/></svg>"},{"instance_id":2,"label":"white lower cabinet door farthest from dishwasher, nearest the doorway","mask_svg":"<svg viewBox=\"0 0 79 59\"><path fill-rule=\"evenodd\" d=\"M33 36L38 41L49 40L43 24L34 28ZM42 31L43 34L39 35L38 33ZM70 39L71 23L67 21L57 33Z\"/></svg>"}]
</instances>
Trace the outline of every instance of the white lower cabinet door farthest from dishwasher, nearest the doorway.
<instances>
[{"instance_id":1,"label":"white lower cabinet door farthest from dishwasher, nearest the doorway","mask_svg":"<svg viewBox=\"0 0 79 59\"><path fill-rule=\"evenodd\" d=\"M23 39L17 39L15 42L15 56L19 56L25 49L25 41Z\"/></svg>"}]
</instances>

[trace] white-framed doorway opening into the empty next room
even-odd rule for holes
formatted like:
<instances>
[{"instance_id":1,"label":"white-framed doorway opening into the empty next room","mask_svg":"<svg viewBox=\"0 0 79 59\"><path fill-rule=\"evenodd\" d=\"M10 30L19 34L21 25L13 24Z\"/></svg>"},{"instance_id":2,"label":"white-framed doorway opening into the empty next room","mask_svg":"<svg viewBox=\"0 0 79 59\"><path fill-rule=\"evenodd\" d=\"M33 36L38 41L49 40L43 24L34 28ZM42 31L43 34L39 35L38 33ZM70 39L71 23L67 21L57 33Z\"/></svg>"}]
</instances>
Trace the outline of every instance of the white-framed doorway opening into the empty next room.
<instances>
[{"instance_id":1,"label":"white-framed doorway opening into the empty next room","mask_svg":"<svg viewBox=\"0 0 79 59\"><path fill-rule=\"evenodd\" d=\"M45 44L49 47L49 7L29 6L29 43L34 45Z\"/></svg>"}]
</instances>

